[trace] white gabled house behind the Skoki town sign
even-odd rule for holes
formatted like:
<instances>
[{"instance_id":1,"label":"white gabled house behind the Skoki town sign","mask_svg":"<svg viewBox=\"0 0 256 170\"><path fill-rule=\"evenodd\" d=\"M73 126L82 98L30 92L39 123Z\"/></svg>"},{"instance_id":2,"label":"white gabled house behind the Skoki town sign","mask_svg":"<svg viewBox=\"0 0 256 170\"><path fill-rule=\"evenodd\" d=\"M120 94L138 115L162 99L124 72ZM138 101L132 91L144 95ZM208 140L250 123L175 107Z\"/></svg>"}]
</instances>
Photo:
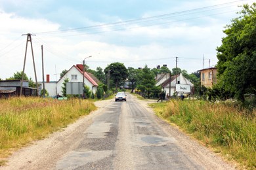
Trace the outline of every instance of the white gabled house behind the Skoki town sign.
<instances>
[{"instance_id":1,"label":"white gabled house behind the Skoki town sign","mask_svg":"<svg viewBox=\"0 0 256 170\"><path fill-rule=\"evenodd\" d=\"M171 88L170 88L170 82L171 82ZM190 85L191 89L194 87L194 84L192 84L192 82L190 82L190 80L185 78L182 74L174 75L171 77L169 74L160 74L156 77L156 86L161 86L161 88L163 88L166 94L171 92L170 94L173 95L175 91L177 91L176 84Z\"/></svg>"}]
</instances>

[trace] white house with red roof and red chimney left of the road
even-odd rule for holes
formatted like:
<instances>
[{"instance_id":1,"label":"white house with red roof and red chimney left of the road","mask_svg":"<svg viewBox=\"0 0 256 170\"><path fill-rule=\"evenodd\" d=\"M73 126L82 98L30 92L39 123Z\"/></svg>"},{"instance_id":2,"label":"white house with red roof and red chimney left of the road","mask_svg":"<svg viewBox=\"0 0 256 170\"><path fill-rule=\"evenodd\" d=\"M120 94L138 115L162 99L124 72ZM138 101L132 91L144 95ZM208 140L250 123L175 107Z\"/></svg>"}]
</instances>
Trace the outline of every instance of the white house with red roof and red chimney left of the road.
<instances>
[{"instance_id":1,"label":"white house with red roof and red chimney left of the road","mask_svg":"<svg viewBox=\"0 0 256 170\"><path fill-rule=\"evenodd\" d=\"M47 81L45 82L45 90L49 93L49 96L55 96L57 94L62 95L62 86L64 80L68 78L69 82L83 82L83 78L85 81L85 85L89 86L90 90L93 93L96 93L99 80L91 73L84 72L83 75L83 64L73 65L68 72L60 78L58 81L50 81L50 76L47 75ZM42 82L39 82L41 86L39 89L42 89Z\"/></svg>"}]
</instances>

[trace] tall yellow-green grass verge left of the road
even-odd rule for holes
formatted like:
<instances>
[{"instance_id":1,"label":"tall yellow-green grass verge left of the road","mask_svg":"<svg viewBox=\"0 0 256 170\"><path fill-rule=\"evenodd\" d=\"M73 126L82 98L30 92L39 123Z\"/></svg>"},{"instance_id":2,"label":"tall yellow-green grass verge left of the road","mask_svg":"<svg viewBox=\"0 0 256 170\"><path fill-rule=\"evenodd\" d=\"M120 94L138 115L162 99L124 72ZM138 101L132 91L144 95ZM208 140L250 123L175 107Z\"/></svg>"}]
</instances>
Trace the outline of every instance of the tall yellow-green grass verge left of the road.
<instances>
[{"instance_id":1,"label":"tall yellow-green grass verge left of the road","mask_svg":"<svg viewBox=\"0 0 256 170\"><path fill-rule=\"evenodd\" d=\"M0 99L0 165L13 150L42 139L95 109L92 101L79 99Z\"/></svg>"}]
</instances>

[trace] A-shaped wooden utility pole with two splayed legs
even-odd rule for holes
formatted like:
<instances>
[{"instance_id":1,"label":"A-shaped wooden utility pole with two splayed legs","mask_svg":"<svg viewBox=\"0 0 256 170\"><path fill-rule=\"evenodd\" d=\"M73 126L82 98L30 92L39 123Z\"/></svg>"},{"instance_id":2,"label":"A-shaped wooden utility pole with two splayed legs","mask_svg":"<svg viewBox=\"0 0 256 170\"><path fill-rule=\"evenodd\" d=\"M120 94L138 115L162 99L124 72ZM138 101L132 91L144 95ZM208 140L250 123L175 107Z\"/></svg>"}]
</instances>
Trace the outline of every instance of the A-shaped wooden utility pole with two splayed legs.
<instances>
[{"instance_id":1,"label":"A-shaped wooden utility pole with two splayed legs","mask_svg":"<svg viewBox=\"0 0 256 170\"><path fill-rule=\"evenodd\" d=\"M25 51L25 57L24 57L24 64L23 64L23 71L22 71L22 81L20 82L20 96L22 96L22 87L23 87L23 80L24 80L24 71L25 71L25 65L26 65L26 56L27 56L27 50L28 50L28 42L30 41L31 50L32 50L32 59L33 59L33 71L35 73L35 84L37 86L37 96L38 96L38 84L37 84L37 74L35 71L35 59L33 57L33 46L32 46L32 34L23 34L27 35L27 42L26 42L26 51Z\"/></svg>"}]
</instances>

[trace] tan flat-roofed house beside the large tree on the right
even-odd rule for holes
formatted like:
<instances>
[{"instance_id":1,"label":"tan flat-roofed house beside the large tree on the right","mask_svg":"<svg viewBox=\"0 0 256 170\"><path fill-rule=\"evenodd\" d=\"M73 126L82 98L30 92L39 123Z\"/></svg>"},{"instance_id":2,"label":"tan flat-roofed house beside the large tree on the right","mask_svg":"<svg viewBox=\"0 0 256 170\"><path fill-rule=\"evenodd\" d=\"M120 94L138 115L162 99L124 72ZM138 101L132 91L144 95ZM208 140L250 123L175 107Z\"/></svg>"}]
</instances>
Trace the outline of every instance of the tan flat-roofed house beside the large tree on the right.
<instances>
[{"instance_id":1,"label":"tan flat-roofed house beside the large tree on the right","mask_svg":"<svg viewBox=\"0 0 256 170\"><path fill-rule=\"evenodd\" d=\"M200 70L201 84L207 88L211 88L217 83L217 68L210 67Z\"/></svg>"}]
</instances>

